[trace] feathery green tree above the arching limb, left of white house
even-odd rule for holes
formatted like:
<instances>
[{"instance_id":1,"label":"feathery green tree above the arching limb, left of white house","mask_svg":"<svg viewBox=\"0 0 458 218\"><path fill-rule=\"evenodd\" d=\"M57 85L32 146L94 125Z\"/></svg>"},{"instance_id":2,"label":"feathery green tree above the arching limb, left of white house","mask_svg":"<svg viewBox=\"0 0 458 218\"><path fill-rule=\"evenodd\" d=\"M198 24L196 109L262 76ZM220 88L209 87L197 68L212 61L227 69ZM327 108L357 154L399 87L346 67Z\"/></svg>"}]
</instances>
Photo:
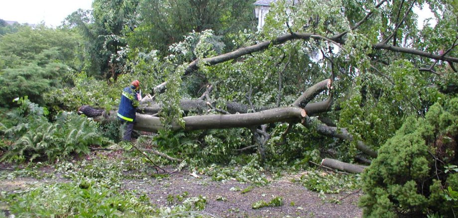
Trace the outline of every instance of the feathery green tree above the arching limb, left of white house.
<instances>
[{"instance_id":1,"label":"feathery green tree above the arching limb, left of white house","mask_svg":"<svg viewBox=\"0 0 458 218\"><path fill-rule=\"evenodd\" d=\"M133 33L134 47L163 52L189 32L212 29L227 36L253 29L253 0L143 0L140 24Z\"/></svg>"}]
</instances>

